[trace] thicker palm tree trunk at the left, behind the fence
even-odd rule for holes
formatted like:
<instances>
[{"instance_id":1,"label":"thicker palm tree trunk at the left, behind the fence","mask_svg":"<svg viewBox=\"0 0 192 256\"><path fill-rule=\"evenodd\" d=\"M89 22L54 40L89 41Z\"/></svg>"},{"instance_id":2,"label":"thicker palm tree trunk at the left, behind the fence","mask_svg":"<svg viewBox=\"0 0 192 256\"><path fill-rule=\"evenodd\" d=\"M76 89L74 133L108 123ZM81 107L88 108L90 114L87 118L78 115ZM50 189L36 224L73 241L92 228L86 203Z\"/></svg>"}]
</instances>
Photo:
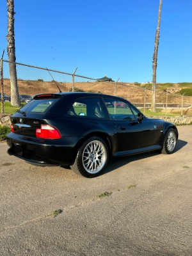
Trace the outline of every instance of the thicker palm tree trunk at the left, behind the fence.
<instances>
[{"instance_id":1,"label":"thicker palm tree trunk at the left, behind the fence","mask_svg":"<svg viewBox=\"0 0 192 256\"><path fill-rule=\"evenodd\" d=\"M11 85L11 104L12 106L20 106L19 90L17 86L17 70L16 70L16 57L15 57L15 33L14 33L14 0L6 0L8 8L8 35L6 39L8 41L8 60L10 68L10 85Z\"/></svg>"}]
</instances>

